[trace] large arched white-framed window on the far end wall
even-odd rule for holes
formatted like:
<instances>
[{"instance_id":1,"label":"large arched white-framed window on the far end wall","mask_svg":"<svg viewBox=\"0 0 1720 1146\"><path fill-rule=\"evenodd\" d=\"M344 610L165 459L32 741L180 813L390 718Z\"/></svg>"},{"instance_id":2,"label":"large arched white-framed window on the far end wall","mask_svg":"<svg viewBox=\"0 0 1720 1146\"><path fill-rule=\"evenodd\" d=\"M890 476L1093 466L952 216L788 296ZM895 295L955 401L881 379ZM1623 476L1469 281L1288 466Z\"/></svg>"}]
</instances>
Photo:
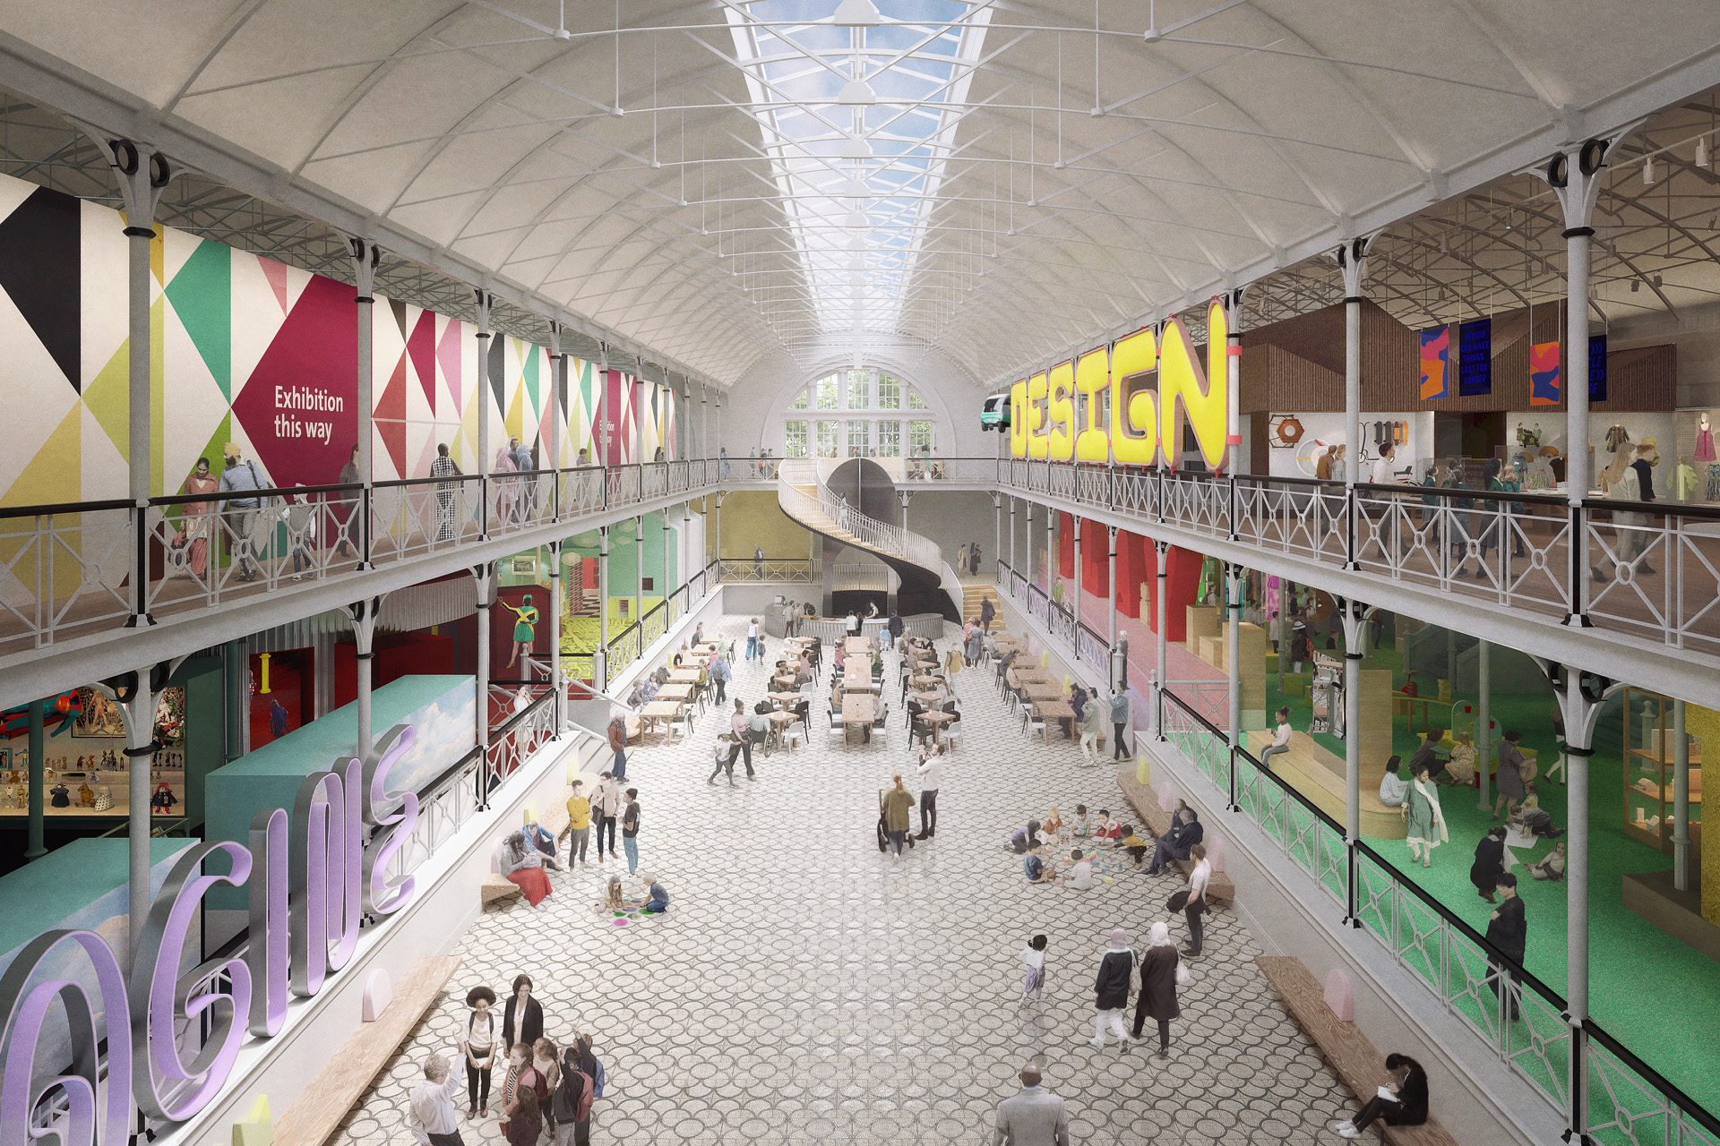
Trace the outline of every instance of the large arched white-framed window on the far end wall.
<instances>
[{"instance_id":1,"label":"large arched white-framed window on the far end wall","mask_svg":"<svg viewBox=\"0 0 1720 1146\"><path fill-rule=\"evenodd\" d=\"M937 448L932 407L884 369L808 381L783 411L783 457L920 457Z\"/></svg>"}]
</instances>

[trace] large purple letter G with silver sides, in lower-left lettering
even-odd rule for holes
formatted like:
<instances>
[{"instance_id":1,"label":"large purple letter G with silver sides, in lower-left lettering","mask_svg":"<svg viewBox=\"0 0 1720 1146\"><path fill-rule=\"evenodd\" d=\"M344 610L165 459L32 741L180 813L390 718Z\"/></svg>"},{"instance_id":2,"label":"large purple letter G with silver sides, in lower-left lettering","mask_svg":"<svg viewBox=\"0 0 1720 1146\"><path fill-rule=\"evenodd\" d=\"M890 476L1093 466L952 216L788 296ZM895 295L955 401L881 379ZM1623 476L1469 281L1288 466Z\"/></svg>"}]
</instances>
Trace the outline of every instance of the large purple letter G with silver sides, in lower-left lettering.
<instances>
[{"instance_id":1,"label":"large purple letter G with silver sides, in lower-left lettering","mask_svg":"<svg viewBox=\"0 0 1720 1146\"><path fill-rule=\"evenodd\" d=\"M227 875L198 875L210 856L225 854ZM196 921L203 893L217 883L243 887L251 876L251 852L230 842L198 844L174 864L162 893L150 904L131 969L131 1093L150 1119L184 1122L203 1110L227 1082L244 1041L241 1015L251 1009L251 969L243 959L212 959L179 978L186 935ZM232 981L230 991L205 990L215 976ZM179 1057L175 1015L196 1019L210 1012L208 1038L187 1064ZM167 1088L157 1086L160 1076ZM172 1086L189 1082L189 1086ZM169 1093L163 1094L162 1091Z\"/></svg>"}]
</instances>

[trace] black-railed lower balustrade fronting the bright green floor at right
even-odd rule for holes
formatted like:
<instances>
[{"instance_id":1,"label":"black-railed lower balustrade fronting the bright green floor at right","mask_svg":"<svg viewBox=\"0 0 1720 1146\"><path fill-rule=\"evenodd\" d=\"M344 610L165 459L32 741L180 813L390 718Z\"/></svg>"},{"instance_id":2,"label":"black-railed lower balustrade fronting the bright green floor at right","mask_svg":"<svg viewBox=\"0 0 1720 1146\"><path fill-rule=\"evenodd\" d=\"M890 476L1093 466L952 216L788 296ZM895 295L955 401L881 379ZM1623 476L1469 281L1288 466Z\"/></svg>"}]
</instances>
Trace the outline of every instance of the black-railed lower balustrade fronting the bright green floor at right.
<instances>
[{"instance_id":1,"label":"black-railed lower balustrade fronting the bright green floor at right","mask_svg":"<svg viewBox=\"0 0 1720 1146\"><path fill-rule=\"evenodd\" d=\"M1176 686L1156 689L1161 735L1213 783L1223 802L1266 837L1355 917L1510 1070L1546 1103L1572 1108L1572 1065L1586 1070L1584 1119L1608 1146L1720 1146L1720 1120L1668 1082L1593 1019L1572 1039L1565 1000L1464 923L1364 840L1345 847L1343 826L1245 749L1230 751L1218 725ZM1235 763L1233 763L1235 761ZM1213 801L1209 801L1213 802ZM1517 1017L1510 1012L1517 1010Z\"/></svg>"}]
</instances>

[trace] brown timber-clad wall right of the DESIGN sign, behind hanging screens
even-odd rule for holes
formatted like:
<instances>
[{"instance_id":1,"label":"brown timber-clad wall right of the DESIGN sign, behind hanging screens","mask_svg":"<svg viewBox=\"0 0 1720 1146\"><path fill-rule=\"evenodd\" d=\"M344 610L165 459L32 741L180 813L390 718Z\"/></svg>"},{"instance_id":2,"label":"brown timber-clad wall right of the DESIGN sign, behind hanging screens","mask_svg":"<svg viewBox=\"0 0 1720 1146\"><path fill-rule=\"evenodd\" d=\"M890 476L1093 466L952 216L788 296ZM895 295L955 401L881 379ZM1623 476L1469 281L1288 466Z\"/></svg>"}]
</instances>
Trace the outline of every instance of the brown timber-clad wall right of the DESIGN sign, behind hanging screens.
<instances>
[{"instance_id":1,"label":"brown timber-clad wall right of the DESIGN sign, behind hanging screens","mask_svg":"<svg viewBox=\"0 0 1720 1146\"><path fill-rule=\"evenodd\" d=\"M1563 308L1536 306L1493 316L1493 392L1421 399L1421 342L1374 302L1362 302L1364 411L1526 411L1529 347L1563 340ZM1457 345L1457 332L1452 332ZM1455 363L1452 364L1455 392ZM1596 412L1670 411L1679 354L1674 345L1613 351L1606 356L1606 400ZM1539 407L1563 411L1565 404ZM1343 304L1273 323L1242 337L1242 412L1343 411Z\"/></svg>"}]
</instances>

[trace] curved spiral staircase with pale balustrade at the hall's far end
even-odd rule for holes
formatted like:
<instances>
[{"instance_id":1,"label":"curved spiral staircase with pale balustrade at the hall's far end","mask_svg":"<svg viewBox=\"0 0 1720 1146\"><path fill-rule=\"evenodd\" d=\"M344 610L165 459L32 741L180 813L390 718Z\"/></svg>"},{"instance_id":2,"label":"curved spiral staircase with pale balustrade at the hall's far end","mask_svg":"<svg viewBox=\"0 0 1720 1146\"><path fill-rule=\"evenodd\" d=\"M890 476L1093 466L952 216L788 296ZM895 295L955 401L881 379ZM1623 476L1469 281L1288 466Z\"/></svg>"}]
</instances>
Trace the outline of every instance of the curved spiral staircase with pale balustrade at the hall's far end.
<instances>
[{"instance_id":1,"label":"curved spiral staircase with pale balustrade at the hall's far end","mask_svg":"<svg viewBox=\"0 0 1720 1146\"><path fill-rule=\"evenodd\" d=\"M829 466L841 460L832 459ZM901 577L903 598L918 601L924 612L939 612L946 620L960 622L961 579L944 560L939 545L901 526L867 517L832 493L824 478L826 471L815 459L783 459L776 469L776 500L783 512L814 533L872 553ZM941 601L936 600L939 593Z\"/></svg>"}]
</instances>

